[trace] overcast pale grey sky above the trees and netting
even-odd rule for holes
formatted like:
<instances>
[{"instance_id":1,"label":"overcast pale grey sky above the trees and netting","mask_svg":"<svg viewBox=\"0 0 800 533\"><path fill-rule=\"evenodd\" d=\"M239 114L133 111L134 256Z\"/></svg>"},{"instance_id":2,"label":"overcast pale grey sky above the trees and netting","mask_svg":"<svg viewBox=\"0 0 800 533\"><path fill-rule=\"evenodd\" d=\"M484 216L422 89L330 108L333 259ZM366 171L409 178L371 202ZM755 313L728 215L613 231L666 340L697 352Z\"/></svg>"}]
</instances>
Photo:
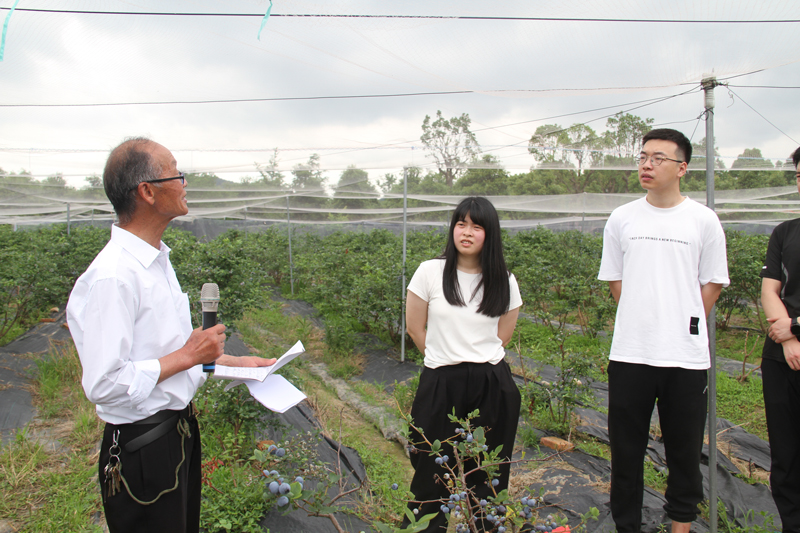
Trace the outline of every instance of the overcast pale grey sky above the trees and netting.
<instances>
[{"instance_id":1,"label":"overcast pale grey sky above the trees and netting","mask_svg":"<svg viewBox=\"0 0 800 533\"><path fill-rule=\"evenodd\" d=\"M619 111L699 141L711 73L733 91L715 90L728 166L745 148L778 160L800 144L800 22L780 22L800 19L797 1L275 0L260 39L266 1L20 0L7 19L13 4L0 0L0 168L78 186L133 135L187 172L255 176L278 148L287 171L316 152L334 181L348 165L376 179L432 165L419 136L437 110L468 113L483 150L514 172L534 163L538 126L602 132ZM308 14L393 17L288 16ZM473 92L154 104L455 91ZM138 105L77 105L119 103Z\"/></svg>"}]
</instances>

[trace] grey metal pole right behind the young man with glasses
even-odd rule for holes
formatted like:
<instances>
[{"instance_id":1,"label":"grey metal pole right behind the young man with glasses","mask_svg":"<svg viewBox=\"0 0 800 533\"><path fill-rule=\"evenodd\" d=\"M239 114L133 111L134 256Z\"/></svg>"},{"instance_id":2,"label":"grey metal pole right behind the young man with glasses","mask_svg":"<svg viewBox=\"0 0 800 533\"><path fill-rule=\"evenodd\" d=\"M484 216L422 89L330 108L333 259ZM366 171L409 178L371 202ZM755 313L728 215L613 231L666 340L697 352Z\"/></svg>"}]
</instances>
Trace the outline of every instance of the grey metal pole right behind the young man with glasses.
<instances>
[{"instance_id":1,"label":"grey metal pole right behind the young man with glasses","mask_svg":"<svg viewBox=\"0 0 800 533\"><path fill-rule=\"evenodd\" d=\"M706 115L706 205L714 211L714 87L715 77L702 81ZM717 320L716 306L708 314L708 349L711 368L708 372L708 514L709 531L717 533Z\"/></svg>"}]
</instances>

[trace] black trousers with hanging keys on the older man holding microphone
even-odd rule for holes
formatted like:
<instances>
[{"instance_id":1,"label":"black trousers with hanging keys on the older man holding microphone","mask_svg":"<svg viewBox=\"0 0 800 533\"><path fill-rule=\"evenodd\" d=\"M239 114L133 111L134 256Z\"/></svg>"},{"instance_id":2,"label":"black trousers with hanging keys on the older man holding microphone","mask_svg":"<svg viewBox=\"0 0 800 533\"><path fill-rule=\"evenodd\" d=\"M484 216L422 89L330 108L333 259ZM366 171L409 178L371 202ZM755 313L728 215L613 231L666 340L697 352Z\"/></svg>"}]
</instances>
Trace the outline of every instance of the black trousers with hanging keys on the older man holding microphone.
<instances>
[{"instance_id":1,"label":"black trousers with hanging keys on the older man holding microphone","mask_svg":"<svg viewBox=\"0 0 800 533\"><path fill-rule=\"evenodd\" d=\"M196 533L200 530L200 430L195 417L186 417L186 420L191 437L184 439L186 459L178 472L178 488L162 495L152 505L141 505L134 501L122 484L120 492L114 496L107 495L104 470L109 460L112 433L116 430L120 432L118 442L122 448L122 475L127 479L131 492L141 501L150 501L164 489L175 485L175 469L181 461L181 435L177 425L150 444L127 453L125 444L154 426L106 424L98 466L103 509L111 533Z\"/></svg>"}]
</instances>

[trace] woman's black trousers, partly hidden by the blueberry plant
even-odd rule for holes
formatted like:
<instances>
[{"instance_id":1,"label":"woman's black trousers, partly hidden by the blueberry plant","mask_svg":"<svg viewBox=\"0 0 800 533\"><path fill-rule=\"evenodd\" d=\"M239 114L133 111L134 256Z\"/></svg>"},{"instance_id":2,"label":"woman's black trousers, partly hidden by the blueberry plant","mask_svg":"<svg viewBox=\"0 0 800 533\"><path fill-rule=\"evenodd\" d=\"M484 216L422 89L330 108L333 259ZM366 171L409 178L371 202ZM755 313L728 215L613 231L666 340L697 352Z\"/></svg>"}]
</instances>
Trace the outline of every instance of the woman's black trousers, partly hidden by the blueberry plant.
<instances>
[{"instance_id":1,"label":"woman's black trousers, partly hidden by the blueberry plant","mask_svg":"<svg viewBox=\"0 0 800 533\"><path fill-rule=\"evenodd\" d=\"M458 418L466 418L468 413L479 409L480 416L472 420L473 427L484 427L489 450L502 445L501 455L508 460L514 450L520 403L519 389L505 360L496 365L461 363L434 369L425 368L422 371L414 404L411 407L411 416L414 425L424 432L428 441L433 442L436 439L444 441L454 436L456 427L460 427L451 422L447 415L455 409ZM413 443L420 443L422 438L419 433L412 431L410 440ZM446 500L450 495L447 487L435 481L437 474L440 478L444 477L445 468L435 463L435 457L428 455L430 451L428 446L420 444L417 447L420 451L411 454L411 465L415 470L411 480L414 499ZM450 466L455 466L452 449L448 450L448 446L443 448L443 454L450 456ZM508 464L500 467L500 483L495 487L497 492L508 488L510 469L511 465ZM467 484L478 499L493 494L487 484L487 476L482 471L469 476ZM447 515L439 510L440 505L441 502L422 505L418 517L438 513L425 529L426 532L439 533L447 529ZM410 509L417 507L419 504L409 503ZM408 520L405 520L403 527L407 524Z\"/></svg>"}]
</instances>

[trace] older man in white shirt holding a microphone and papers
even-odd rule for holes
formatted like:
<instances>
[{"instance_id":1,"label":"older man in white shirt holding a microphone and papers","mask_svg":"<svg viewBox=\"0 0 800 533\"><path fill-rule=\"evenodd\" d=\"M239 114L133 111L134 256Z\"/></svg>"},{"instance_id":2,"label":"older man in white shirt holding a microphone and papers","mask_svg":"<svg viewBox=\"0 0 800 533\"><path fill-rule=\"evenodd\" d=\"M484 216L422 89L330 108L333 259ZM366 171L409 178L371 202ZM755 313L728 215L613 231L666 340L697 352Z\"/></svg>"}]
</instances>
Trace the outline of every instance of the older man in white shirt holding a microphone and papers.
<instances>
[{"instance_id":1,"label":"older man in white shirt holding a microphone and papers","mask_svg":"<svg viewBox=\"0 0 800 533\"><path fill-rule=\"evenodd\" d=\"M222 324L192 330L189 299L161 241L169 222L189 212L176 164L149 139L111 151L103 186L119 223L67 304L83 388L106 423L98 466L111 533L199 530L200 435L191 400L206 379L200 365L275 362L224 355Z\"/></svg>"}]
</instances>

